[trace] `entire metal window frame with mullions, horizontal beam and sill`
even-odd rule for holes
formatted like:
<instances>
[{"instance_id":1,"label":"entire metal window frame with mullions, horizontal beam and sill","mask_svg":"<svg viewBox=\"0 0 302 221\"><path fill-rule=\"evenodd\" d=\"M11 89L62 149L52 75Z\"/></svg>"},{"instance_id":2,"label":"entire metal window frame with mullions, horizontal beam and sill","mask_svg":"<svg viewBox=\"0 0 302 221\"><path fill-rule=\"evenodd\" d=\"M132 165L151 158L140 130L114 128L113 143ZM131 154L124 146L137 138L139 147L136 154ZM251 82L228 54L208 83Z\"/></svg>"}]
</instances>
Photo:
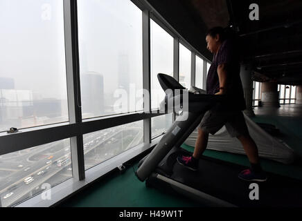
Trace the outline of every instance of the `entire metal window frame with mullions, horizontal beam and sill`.
<instances>
[{"instance_id":1,"label":"entire metal window frame with mullions, horizontal beam and sill","mask_svg":"<svg viewBox=\"0 0 302 221\"><path fill-rule=\"evenodd\" d=\"M195 86L195 55L204 61L204 70L206 70L206 62L211 61L198 52L188 41L186 41L179 33L170 26L170 24L161 17L159 12L155 10L147 0L129 0L142 10L143 20L143 88L150 91L150 18L153 19L163 30L166 30L174 38L173 50L173 77L179 79L179 43L183 44L191 51L191 83ZM17 204L16 206L53 206L69 195L78 191L87 184L94 182L101 176L116 169L121 165L138 155L145 154L150 148L155 146L161 136L151 139L151 118L164 115L163 113L151 112L150 99L144 98L144 111L148 113L125 113L121 115L94 117L91 119L82 119L80 109L80 68L79 68L79 51L78 51L78 15L77 1L64 0L64 40L65 40L65 57L66 57L66 84L67 97L69 107L69 122L51 124L46 126L37 126L33 128L24 128L18 133L0 133L0 143L3 146L0 149L0 155L21 151L33 146L48 144L58 140L70 138L71 140L71 162L73 169L73 177L69 180L53 186L52 200L41 200L42 193L29 198L28 200ZM206 71L204 71L204 75ZM206 77L204 77L204 85ZM175 120L176 115L173 114ZM139 144L106 162L98 164L85 171L84 151L83 151L83 135L105 128L119 126L143 120L143 144ZM1 201L0 201L1 206Z\"/></svg>"}]
</instances>

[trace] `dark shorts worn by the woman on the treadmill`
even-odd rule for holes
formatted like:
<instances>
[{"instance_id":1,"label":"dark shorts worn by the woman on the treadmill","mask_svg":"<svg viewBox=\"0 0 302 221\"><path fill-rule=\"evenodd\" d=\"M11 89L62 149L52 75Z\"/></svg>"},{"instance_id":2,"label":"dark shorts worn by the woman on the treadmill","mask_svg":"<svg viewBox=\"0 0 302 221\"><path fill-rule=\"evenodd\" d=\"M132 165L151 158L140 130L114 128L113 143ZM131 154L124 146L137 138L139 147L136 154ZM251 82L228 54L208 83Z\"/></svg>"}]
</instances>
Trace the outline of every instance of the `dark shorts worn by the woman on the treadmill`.
<instances>
[{"instance_id":1,"label":"dark shorts worn by the woman on the treadmill","mask_svg":"<svg viewBox=\"0 0 302 221\"><path fill-rule=\"evenodd\" d=\"M249 135L242 111L206 111L199 128L214 135L224 125L231 137Z\"/></svg>"}]
</instances>

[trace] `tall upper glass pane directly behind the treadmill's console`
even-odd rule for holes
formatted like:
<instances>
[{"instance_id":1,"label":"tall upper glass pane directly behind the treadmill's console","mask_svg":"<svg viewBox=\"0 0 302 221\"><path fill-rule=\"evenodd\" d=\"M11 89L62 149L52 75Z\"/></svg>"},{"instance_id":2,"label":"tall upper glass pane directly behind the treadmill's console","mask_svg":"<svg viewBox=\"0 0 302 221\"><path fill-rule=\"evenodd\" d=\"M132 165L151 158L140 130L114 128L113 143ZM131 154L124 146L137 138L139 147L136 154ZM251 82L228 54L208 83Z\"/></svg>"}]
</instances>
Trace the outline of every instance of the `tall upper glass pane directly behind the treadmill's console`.
<instances>
[{"instance_id":1,"label":"tall upper glass pane directly behind the treadmill's console","mask_svg":"<svg viewBox=\"0 0 302 221\"><path fill-rule=\"evenodd\" d=\"M157 79L158 73L173 77L174 39L157 23L151 20L151 108L159 108L165 93Z\"/></svg>"}]
</instances>

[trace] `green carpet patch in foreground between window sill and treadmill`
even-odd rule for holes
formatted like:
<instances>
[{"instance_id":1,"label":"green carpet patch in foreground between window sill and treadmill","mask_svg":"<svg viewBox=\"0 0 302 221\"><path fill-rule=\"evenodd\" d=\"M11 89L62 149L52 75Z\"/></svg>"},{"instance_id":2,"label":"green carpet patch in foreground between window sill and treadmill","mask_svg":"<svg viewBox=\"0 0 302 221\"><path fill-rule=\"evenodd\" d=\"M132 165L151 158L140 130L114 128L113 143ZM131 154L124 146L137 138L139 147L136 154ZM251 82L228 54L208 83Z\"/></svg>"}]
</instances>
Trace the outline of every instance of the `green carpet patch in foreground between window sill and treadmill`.
<instances>
[{"instance_id":1,"label":"green carpet patch in foreground between window sill and treadmill","mask_svg":"<svg viewBox=\"0 0 302 221\"><path fill-rule=\"evenodd\" d=\"M134 169L137 169L137 164ZM147 188L134 175L132 167L114 173L66 200L60 206L78 207L196 207L190 199Z\"/></svg>"}]
</instances>

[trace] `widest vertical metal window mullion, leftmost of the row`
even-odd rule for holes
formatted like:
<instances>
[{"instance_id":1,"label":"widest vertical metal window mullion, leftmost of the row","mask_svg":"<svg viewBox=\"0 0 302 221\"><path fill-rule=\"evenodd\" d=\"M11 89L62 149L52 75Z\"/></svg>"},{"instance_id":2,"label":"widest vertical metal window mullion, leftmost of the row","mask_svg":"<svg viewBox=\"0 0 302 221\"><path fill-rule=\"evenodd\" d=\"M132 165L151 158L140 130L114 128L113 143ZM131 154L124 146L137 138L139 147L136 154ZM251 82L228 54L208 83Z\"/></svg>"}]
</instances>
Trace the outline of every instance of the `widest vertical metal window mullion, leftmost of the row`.
<instances>
[{"instance_id":1,"label":"widest vertical metal window mullion, leftmost of the row","mask_svg":"<svg viewBox=\"0 0 302 221\"><path fill-rule=\"evenodd\" d=\"M78 13L76 0L64 0L64 36L69 122L82 124L80 66L78 54ZM83 135L70 138L73 177L85 179Z\"/></svg>"}]
</instances>

